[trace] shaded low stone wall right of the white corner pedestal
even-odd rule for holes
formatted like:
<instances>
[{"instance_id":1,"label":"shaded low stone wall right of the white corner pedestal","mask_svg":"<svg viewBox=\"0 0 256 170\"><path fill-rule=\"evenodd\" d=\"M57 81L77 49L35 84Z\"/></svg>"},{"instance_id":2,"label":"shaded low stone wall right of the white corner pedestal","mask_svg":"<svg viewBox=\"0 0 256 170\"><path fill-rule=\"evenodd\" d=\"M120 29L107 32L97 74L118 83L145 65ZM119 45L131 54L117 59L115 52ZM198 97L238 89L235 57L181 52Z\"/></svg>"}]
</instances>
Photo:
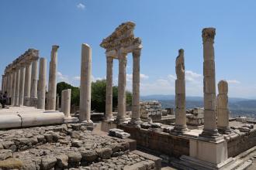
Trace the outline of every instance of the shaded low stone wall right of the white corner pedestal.
<instances>
[{"instance_id":1,"label":"shaded low stone wall right of the white corner pedestal","mask_svg":"<svg viewBox=\"0 0 256 170\"><path fill-rule=\"evenodd\" d=\"M234 157L256 145L256 129L237 133L236 138L227 141L228 157Z\"/></svg>"}]
</instances>

